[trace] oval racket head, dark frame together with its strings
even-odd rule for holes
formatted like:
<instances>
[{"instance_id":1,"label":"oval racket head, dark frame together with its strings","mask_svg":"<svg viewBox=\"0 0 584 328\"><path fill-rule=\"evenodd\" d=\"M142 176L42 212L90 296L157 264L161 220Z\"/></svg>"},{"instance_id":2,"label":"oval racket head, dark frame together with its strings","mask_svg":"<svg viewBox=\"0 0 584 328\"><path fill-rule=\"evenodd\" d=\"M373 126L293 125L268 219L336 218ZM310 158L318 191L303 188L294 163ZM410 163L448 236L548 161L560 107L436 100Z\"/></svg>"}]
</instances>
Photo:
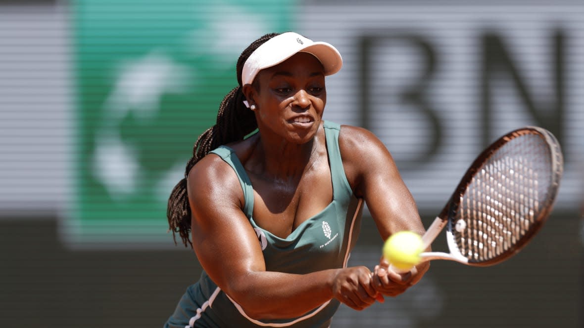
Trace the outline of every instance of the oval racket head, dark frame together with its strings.
<instances>
[{"instance_id":1,"label":"oval racket head, dark frame together with its strings","mask_svg":"<svg viewBox=\"0 0 584 328\"><path fill-rule=\"evenodd\" d=\"M551 213L563 169L558 140L546 129L526 126L493 142L440 213L450 253L473 266L515 255Z\"/></svg>"}]
</instances>

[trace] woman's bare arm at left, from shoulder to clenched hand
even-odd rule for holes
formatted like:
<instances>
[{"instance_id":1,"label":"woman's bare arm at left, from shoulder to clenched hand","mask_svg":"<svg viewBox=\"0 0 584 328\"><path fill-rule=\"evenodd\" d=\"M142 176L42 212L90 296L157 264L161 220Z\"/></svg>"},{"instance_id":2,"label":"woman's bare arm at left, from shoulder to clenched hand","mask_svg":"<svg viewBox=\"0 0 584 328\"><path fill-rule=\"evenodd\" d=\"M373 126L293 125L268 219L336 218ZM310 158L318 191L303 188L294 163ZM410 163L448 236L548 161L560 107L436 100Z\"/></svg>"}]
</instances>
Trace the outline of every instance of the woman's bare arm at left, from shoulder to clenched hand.
<instances>
[{"instance_id":1,"label":"woman's bare arm at left, from shoulder to clenched hand","mask_svg":"<svg viewBox=\"0 0 584 328\"><path fill-rule=\"evenodd\" d=\"M232 168L217 156L203 158L189 174L192 241L211 279L255 319L303 315L335 297L354 309L374 302L366 267L309 274L266 271L255 234L242 211L244 195Z\"/></svg>"}]
</instances>

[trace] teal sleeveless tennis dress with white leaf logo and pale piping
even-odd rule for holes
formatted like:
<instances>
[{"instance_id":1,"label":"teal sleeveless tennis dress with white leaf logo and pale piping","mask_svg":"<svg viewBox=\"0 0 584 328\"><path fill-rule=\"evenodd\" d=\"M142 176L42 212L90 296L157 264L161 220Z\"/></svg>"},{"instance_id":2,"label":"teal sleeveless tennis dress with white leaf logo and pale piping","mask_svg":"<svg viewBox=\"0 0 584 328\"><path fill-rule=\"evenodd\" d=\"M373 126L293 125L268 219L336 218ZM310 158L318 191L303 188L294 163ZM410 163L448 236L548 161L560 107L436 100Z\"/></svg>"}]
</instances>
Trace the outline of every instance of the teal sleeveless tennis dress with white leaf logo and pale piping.
<instances>
[{"instance_id":1,"label":"teal sleeveless tennis dress with white leaf logo and pale piping","mask_svg":"<svg viewBox=\"0 0 584 328\"><path fill-rule=\"evenodd\" d=\"M253 220L253 188L235 152L227 146L211 151L236 172L244 191L244 212L258 235L266 270L304 274L346 266L361 225L361 199L349 186L339 151L338 124L324 122L331 167L333 200L320 213L301 223L288 237L280 238ZM331 299L298 318L255 320L203 271L199 282L189 286L165 327L329 327L339 301Z\"/></svg>"}]
</instances>

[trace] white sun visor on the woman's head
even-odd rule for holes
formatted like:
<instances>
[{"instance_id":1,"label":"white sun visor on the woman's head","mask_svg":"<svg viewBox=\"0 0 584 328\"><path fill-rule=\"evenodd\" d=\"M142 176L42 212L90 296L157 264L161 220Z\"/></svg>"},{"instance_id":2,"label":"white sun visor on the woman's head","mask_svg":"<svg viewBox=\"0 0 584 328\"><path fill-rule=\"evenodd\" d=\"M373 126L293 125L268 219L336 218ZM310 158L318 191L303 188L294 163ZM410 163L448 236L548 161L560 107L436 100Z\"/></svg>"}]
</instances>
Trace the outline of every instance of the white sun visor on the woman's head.
<instances>
[{"instance_id":1,"label":"white sun visor on the woman's head","mask_svg":"<svg viewBox=\"0 0 584 328\"><path fill-rule=\"evenodd\" d=\"M270 38L249 55L241 73L243 85L251 84L260 70L278 65L298 52L314 55L324 66L325 75L332 75L343 66L339 51L331 44L286 32Z\"/></svg>"}]
</instances>

